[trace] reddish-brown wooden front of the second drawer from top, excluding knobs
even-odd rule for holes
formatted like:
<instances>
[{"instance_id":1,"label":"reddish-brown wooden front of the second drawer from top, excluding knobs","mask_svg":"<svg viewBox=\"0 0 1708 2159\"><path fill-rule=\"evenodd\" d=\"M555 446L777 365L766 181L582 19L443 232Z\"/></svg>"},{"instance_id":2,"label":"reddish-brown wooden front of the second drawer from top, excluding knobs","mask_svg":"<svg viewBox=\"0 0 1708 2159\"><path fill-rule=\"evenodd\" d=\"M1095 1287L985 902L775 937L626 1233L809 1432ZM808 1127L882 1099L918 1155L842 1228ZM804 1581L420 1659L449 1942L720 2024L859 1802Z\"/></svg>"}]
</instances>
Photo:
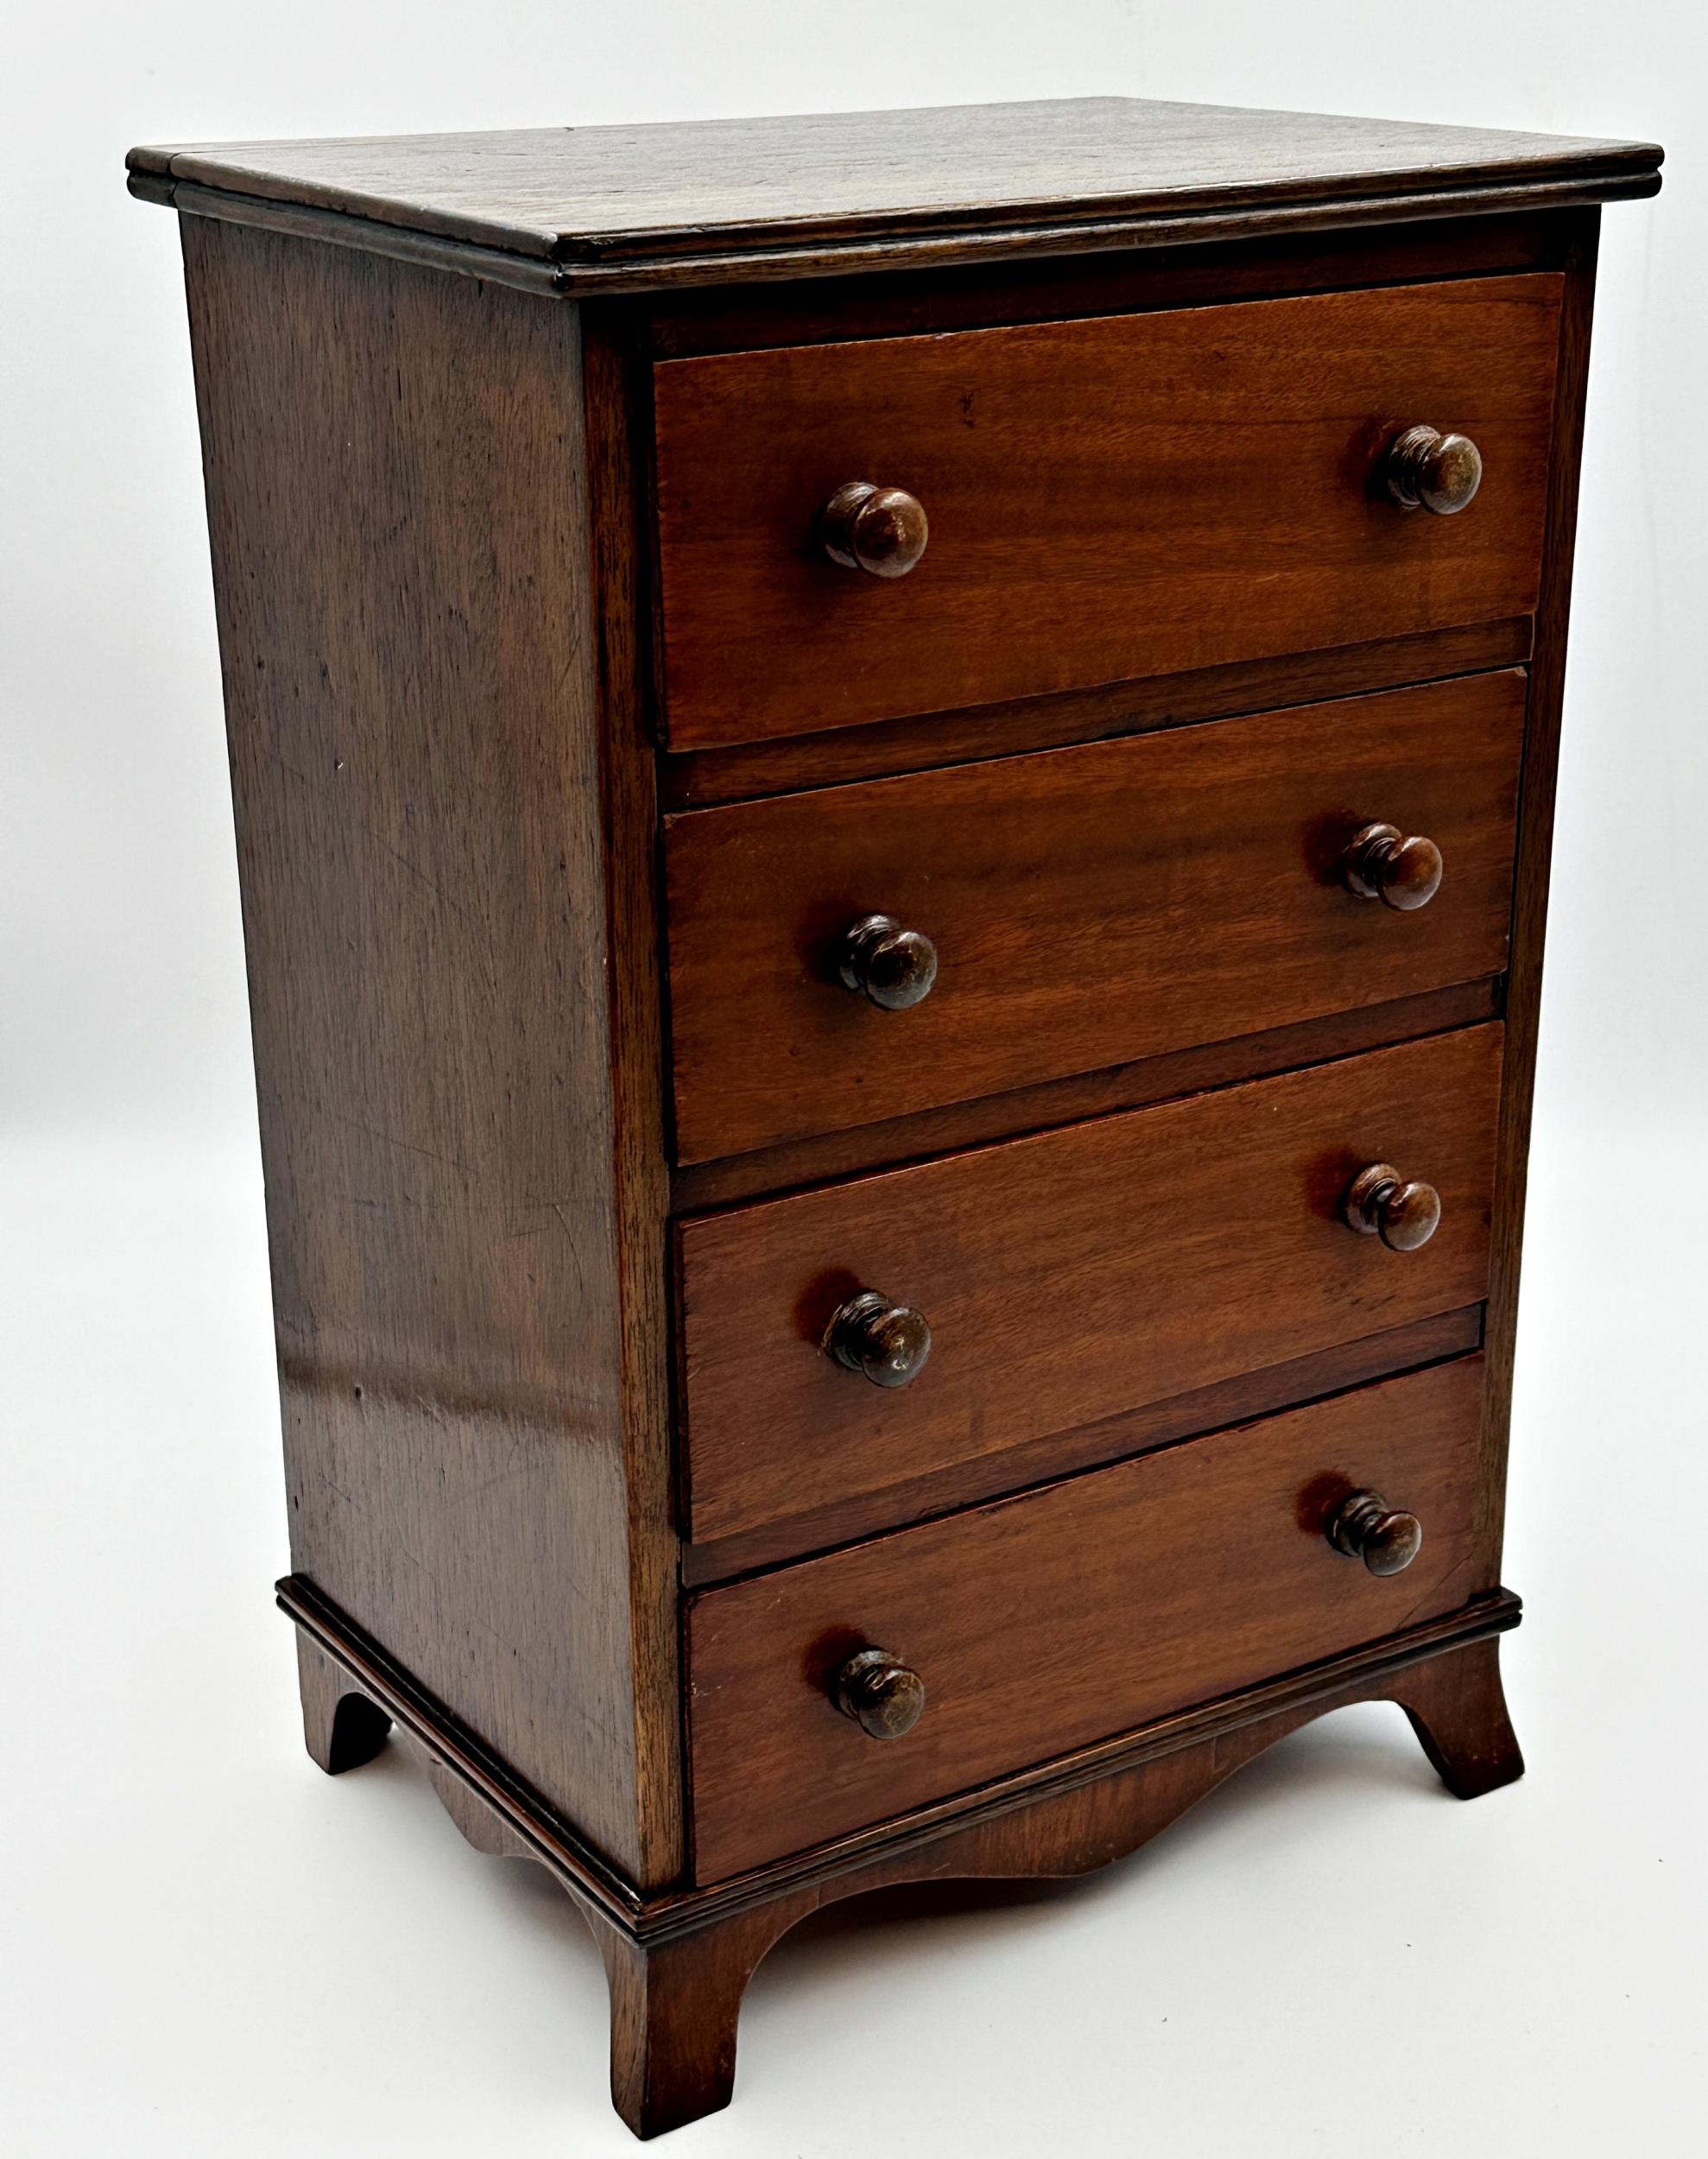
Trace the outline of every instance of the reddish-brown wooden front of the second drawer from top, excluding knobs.
<instances>
[{"instance_id":1,"label":"reddish-brown wooden front of the second drawer from top, excluding knobs","mask_svg":"<svg viewBox=\"0 0 1708 2159\"><path fill-rule=\"evenodd\" d=\"M678 1159L1499 974L1522 734L1512 671L672 818ZM1371 823L1427 905L1347 890ZM903 1010L838 974L875 913L937 954Z\"/></svg>"}]
</instances>

